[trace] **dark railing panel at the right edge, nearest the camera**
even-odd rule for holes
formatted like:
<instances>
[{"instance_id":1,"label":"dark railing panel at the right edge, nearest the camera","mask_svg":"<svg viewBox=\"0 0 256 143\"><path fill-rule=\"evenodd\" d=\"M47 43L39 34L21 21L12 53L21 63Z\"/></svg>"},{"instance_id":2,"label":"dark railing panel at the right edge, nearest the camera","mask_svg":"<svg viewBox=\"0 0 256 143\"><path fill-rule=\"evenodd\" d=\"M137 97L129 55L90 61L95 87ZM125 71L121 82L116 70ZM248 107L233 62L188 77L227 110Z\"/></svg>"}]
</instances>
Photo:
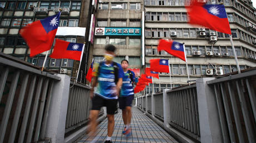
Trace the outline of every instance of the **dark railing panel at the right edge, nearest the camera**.
<instances>
[{"instance_id":1,"label":"dark railing panel at the right edge, nearest the camera","mask_svg":"<svg viewBox=\"0 0 256 143\"><path fill-rule=\"evenodd\" d=\"M214 88L224 142L256 142L256 69L207 84Z\"/></svg>"}]
</instances>

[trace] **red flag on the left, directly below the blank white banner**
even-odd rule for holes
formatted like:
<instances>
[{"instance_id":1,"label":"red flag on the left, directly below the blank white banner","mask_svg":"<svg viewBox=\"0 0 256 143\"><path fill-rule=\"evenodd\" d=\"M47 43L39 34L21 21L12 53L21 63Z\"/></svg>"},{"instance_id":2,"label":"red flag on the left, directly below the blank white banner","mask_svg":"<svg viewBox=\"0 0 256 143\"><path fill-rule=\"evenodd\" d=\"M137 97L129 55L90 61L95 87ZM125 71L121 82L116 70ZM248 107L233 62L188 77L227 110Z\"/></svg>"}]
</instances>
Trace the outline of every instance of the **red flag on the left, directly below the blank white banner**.
<instances>
[{"instance_id":1,"label":"red flag on the left, directly below the blank white banner","mask_svg":"<svg viewBox=\"0 0 256 143\"><path fill-rule=\"evenodd\" d=\"M56 39L56 43L50 57L55 59L81 60L84 48L84 44L71 43L66 42L65 40Z\"/></svg>"}]
</instances>

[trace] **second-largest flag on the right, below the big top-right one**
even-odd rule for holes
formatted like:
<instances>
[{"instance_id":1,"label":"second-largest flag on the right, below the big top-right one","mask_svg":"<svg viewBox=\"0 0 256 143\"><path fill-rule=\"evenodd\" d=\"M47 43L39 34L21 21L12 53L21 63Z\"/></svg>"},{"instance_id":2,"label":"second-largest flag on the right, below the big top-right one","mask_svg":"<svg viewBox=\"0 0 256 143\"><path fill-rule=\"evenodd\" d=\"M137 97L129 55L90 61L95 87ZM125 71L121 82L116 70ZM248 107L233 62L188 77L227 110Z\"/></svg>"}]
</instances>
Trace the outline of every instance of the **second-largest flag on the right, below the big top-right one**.
<instances>
[{"instance_id":1,"label":"second-largest flag on the right, below the big top-right one","mask_svg":"<svg viewBox=\"0 0 256 143\"><path fill-rule=\"evenodd\" d=\"M185 49L183 47L183 44L179 42L161 39L157 46L157 50L165 50L167 53L173 55L174 57L178 57L186 62Z\"/></svg>"}]
</instances>

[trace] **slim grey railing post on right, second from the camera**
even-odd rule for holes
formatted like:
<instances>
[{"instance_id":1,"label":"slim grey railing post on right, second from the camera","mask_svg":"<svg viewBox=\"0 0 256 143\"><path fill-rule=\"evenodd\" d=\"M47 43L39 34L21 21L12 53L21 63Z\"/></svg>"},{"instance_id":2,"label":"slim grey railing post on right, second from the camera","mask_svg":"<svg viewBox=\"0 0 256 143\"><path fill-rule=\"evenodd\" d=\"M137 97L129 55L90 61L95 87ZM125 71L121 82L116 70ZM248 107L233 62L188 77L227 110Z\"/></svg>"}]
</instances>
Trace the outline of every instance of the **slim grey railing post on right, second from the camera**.
<instances>
[{"instance_id":1,"label":"slim grey railing post on right, second from the camera","mask_svg":"<svg viewBox=\"0 0 256 143\"><path fill-rule=\"evenodd\" d=\"M164 89L163 91L163 107L164 107L164 126L165 127L169 127L169 121L171 118L170 115L170 100L168 100L168 95L167 95L167 91L169 89Z\"/></svg>"}]
</instances>

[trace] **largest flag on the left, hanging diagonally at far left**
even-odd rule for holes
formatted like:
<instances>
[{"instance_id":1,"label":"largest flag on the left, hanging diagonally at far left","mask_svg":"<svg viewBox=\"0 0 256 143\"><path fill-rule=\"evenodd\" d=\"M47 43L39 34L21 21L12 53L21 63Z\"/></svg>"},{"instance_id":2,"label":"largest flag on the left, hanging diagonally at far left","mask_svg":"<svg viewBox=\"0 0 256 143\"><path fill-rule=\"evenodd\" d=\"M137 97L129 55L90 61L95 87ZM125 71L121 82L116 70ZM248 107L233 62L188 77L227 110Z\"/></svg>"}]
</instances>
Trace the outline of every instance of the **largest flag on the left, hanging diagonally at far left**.
<instances>
[{"instance_id":1,"label":"largest flag on the left, hanging diagonally at far left","mask_svg":"<svg viewBox=\"0 0 256 143\"><path fill-rule=\"evenodd\" d=\"M60 15L61 13L58 13L33 22L19 31L30 49L30 57L51 49L60 23Z\"/></svg>"}]
</instances>

